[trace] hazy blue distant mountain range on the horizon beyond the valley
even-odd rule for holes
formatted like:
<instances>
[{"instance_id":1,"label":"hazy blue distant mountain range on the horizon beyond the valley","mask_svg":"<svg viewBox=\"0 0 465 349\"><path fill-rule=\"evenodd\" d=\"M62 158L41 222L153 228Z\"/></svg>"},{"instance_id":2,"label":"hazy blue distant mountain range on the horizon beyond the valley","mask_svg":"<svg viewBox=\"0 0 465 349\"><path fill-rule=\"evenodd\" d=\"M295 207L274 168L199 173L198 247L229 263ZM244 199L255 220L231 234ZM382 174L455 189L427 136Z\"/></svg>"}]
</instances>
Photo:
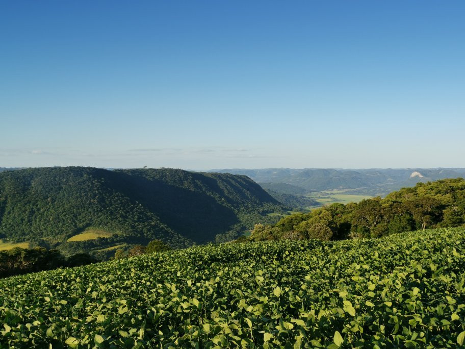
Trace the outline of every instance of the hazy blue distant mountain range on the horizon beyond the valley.
<instances>
[{"instance_id":1,"label":"hazy blue distant mountain range on the horizon beyond the valley","mask_svg":"<svg viewBox=\"0 0 465 349\"><path fill-rule=\"evenodd\" d=\"M282 192L296 194L298 188L309 191L350 190L354 194L386 195L402 187L415 186L418 182L465 177L465 168L401 168L401 169L332 169L332 168L264 168L264 169L215 169L212 172L243 174L270 188L281 186ZM297 189L295 188L297 187Z\"/></svg>"}]
</instances>

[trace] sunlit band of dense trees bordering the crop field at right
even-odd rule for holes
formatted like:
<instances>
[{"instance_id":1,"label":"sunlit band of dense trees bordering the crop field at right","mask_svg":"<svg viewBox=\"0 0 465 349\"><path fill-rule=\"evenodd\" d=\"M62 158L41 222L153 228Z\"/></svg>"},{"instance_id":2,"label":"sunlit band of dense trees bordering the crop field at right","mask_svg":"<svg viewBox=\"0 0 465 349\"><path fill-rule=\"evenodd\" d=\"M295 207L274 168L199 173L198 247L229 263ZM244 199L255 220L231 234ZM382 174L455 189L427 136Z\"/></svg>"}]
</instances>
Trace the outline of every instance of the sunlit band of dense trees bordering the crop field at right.
<instances>
[{"instance_id":1,"label":"sunlit band of dense trees bordering the crop field at right","mask_svg":"<svg viewBox=\"0 0 465 349\"><path fill-rule=\"evenodd\" d=\"M282 218L276 225L256 225L251 240L281 238L340 240L465 223L465 180L445 179L402 188L385 198L358 204L332 204L310 213Z\"/></svg>"}]
</instances>

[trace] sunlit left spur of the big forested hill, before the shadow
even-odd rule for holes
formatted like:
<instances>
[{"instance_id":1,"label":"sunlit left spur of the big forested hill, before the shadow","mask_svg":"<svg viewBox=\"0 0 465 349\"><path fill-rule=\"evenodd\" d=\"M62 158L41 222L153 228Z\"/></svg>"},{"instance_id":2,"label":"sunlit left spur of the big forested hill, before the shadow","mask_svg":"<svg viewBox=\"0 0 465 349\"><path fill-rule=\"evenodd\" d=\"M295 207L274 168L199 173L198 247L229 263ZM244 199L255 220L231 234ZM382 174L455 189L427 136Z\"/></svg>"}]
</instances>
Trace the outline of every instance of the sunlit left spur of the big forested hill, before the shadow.
<instances>
[{"instance_id":1,"label":"sunlit left spur of the big forested hill, before the shadow","mask_svg":"<svg viewBox=\"0 0 465 349\"><path fill-rule=\"evenodd\" d=\"M117 235L184 239L118 190L124 179L86 167L31 168L0 174L0 234L16 241L66 241L87 227ZM185 241L187 242L187 240Z\"/></svg>"}]
</instances>

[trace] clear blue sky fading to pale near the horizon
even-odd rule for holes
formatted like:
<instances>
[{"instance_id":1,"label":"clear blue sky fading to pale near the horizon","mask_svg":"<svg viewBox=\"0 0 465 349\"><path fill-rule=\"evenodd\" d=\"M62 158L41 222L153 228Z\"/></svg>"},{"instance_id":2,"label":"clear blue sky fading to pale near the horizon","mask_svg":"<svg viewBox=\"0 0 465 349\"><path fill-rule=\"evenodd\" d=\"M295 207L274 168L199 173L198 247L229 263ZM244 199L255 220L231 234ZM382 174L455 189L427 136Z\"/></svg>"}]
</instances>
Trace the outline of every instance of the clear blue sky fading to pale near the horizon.
<instances>
[{"instance_id":1,"label":"clear blue sky fading to pale near the horizon","mask_svg":"<svg viewBox=\"0 0 465 349\"><path fill-rule=\"evenodd\" d=\"M0 167L465 167L463 1L5 1Z\"/></svg>"}]
</instances>

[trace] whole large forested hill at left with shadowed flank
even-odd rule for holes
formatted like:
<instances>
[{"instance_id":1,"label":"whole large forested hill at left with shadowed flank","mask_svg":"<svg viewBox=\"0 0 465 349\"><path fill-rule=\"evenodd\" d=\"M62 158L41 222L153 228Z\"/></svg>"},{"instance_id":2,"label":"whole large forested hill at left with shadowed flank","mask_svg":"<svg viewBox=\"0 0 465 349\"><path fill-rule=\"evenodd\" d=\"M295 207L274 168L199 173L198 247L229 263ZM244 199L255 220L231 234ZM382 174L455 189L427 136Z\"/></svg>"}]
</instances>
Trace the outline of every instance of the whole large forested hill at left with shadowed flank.
<instances>
[{"instance_id":1,"label":"whole large forested hill at left with shadowed flank","mask_svg":"<svg viewBox=\"0 0 465 349\"><path fill-rule=\"evenodd\" d=\"M0 173L0 239L65 254L155 238L174 247L214 241L282 209L249 178L227 173L91 167Z\"/></svg>"}]
</instances>

